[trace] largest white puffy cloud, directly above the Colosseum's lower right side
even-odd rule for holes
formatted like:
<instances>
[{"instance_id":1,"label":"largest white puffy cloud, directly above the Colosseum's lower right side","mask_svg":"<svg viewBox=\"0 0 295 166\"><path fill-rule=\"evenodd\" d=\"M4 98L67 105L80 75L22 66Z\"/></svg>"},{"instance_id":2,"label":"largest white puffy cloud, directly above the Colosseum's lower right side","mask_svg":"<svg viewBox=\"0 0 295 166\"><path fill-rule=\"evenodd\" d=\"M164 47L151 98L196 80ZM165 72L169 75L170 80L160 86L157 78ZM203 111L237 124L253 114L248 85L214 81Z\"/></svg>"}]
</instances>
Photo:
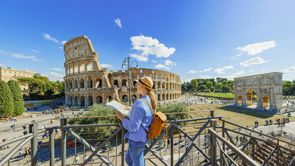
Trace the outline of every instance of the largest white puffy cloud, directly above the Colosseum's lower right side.
<instances>
[{"instance_id":1,"label":"largest white puffy cloud, directly above the Colosseum's lower right side","mask_svg":"<svg viewBox=\"0 0 295 166\"><path fill-rule=\"evenodd\" d=\"M160 44L158 39L145 37L144 35L133 36L130 38L133 50L137 50L141 57L155 55L155 57L169 57L175 52L175 48L167 48L164 44ZM145 61L146 62L146 61Z\"/></svg>"}]
</instances>

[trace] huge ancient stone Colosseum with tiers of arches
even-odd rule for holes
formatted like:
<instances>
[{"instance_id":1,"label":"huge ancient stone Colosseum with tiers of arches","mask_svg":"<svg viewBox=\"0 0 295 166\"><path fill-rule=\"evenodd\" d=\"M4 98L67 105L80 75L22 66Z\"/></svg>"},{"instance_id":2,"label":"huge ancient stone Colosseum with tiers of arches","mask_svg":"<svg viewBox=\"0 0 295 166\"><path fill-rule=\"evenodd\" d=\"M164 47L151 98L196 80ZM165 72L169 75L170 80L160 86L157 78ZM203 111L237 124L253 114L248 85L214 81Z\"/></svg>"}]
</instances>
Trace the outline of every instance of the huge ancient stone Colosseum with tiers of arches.
<instances>
[{"instance_id":1,"label":"huge ancient stone Colosseum with tiers of arches","mask_svg":"<svg viewBox=\"0 0 295 166\"><path fill-rule=\"evenodd\" d=\"M135 79L148 75L153 79L153 89L158 102L169 102L180 98L180 76L166 71L150 68L131 68L131 84L128 71L108 71L101 68L98 54L95 53L91 40L86 36L75 37L64 44L66 62L66 104L73 106L90 106L93 103L106 104L111 100L140 98ZM123 57L122 57L123 59Z\"/></svg>"}]
</instances>

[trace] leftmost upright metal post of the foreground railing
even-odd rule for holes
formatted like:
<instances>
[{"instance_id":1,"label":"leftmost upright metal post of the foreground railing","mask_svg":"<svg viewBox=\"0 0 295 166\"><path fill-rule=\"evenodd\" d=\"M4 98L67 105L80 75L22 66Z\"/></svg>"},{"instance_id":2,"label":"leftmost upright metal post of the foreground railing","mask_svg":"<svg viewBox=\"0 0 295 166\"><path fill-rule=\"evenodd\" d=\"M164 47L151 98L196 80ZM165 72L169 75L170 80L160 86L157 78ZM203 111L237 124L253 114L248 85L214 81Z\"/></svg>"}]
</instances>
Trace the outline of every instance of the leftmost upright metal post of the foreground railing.
<instances>
[{"instance_id":1,"label":"leftmost upright metal post of the foreground railing","mask_svg":"<svg viewBox=\"0 0 295 166\"><path fill-rule=\"evenodd\" d=\"M33 133L32 140L30 140L31 144L31 165L36 166L37 165L37 138L38 138L38 124L30 124L29 128L30 133Z\"/></svg>"}]
</instances>

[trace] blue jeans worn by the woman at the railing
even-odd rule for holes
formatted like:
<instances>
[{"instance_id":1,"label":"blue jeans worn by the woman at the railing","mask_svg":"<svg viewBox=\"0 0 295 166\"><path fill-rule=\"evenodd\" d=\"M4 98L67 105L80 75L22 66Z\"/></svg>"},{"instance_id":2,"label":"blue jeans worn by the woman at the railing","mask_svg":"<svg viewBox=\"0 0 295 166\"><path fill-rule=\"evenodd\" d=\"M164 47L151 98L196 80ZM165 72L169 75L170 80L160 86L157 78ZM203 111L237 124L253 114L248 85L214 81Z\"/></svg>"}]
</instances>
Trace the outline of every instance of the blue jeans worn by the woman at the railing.
<instances>
[{"instance_id":1,"label":"blue jeans worn by the woman at the railing","mask_svg":"<svg viewBox=\"0 0 295 166\"><path fill-rule=\"evenodd\" d=\"M144 166L144 145L149 142L150 139L147 139L146 142L135 142L129 140L129 148L126 152L125 160L129 166Z\"/></svg>"}]
</instances>

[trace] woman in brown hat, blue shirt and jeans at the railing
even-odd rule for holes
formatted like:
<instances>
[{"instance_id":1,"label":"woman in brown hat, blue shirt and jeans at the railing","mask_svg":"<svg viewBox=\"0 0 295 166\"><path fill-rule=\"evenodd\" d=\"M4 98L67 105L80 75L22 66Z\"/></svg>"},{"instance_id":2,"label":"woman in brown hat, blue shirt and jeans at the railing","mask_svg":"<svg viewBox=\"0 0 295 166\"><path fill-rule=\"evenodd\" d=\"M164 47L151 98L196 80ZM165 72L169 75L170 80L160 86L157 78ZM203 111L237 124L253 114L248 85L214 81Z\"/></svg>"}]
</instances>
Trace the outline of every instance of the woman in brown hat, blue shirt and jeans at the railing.
<instances>
[{"instance_id":1,"label":"woman in brown hat, blue shirt and jeans at the railing","mask_svg":"<svg viewBox=\"0 0 295 166\"><path fill-rule=\"evenodd\" d=\"M137 82L137 92L142 95L141 98L147 100L153 110L157 109L155 94L151 89L153 87L151 77L145 76L135 81ZM141 98L135 100L129 111L129 120L116 110L116 117L122 120L123 127L128 131L124 136L124 138L129 138L129 148L125 156L126 163L135 166L145 165L143 149L150 140L146 138L146 131L149 132L149 125L153 119L153 111L151 111L149 104Z\"/></svg>"}]
</instances>

